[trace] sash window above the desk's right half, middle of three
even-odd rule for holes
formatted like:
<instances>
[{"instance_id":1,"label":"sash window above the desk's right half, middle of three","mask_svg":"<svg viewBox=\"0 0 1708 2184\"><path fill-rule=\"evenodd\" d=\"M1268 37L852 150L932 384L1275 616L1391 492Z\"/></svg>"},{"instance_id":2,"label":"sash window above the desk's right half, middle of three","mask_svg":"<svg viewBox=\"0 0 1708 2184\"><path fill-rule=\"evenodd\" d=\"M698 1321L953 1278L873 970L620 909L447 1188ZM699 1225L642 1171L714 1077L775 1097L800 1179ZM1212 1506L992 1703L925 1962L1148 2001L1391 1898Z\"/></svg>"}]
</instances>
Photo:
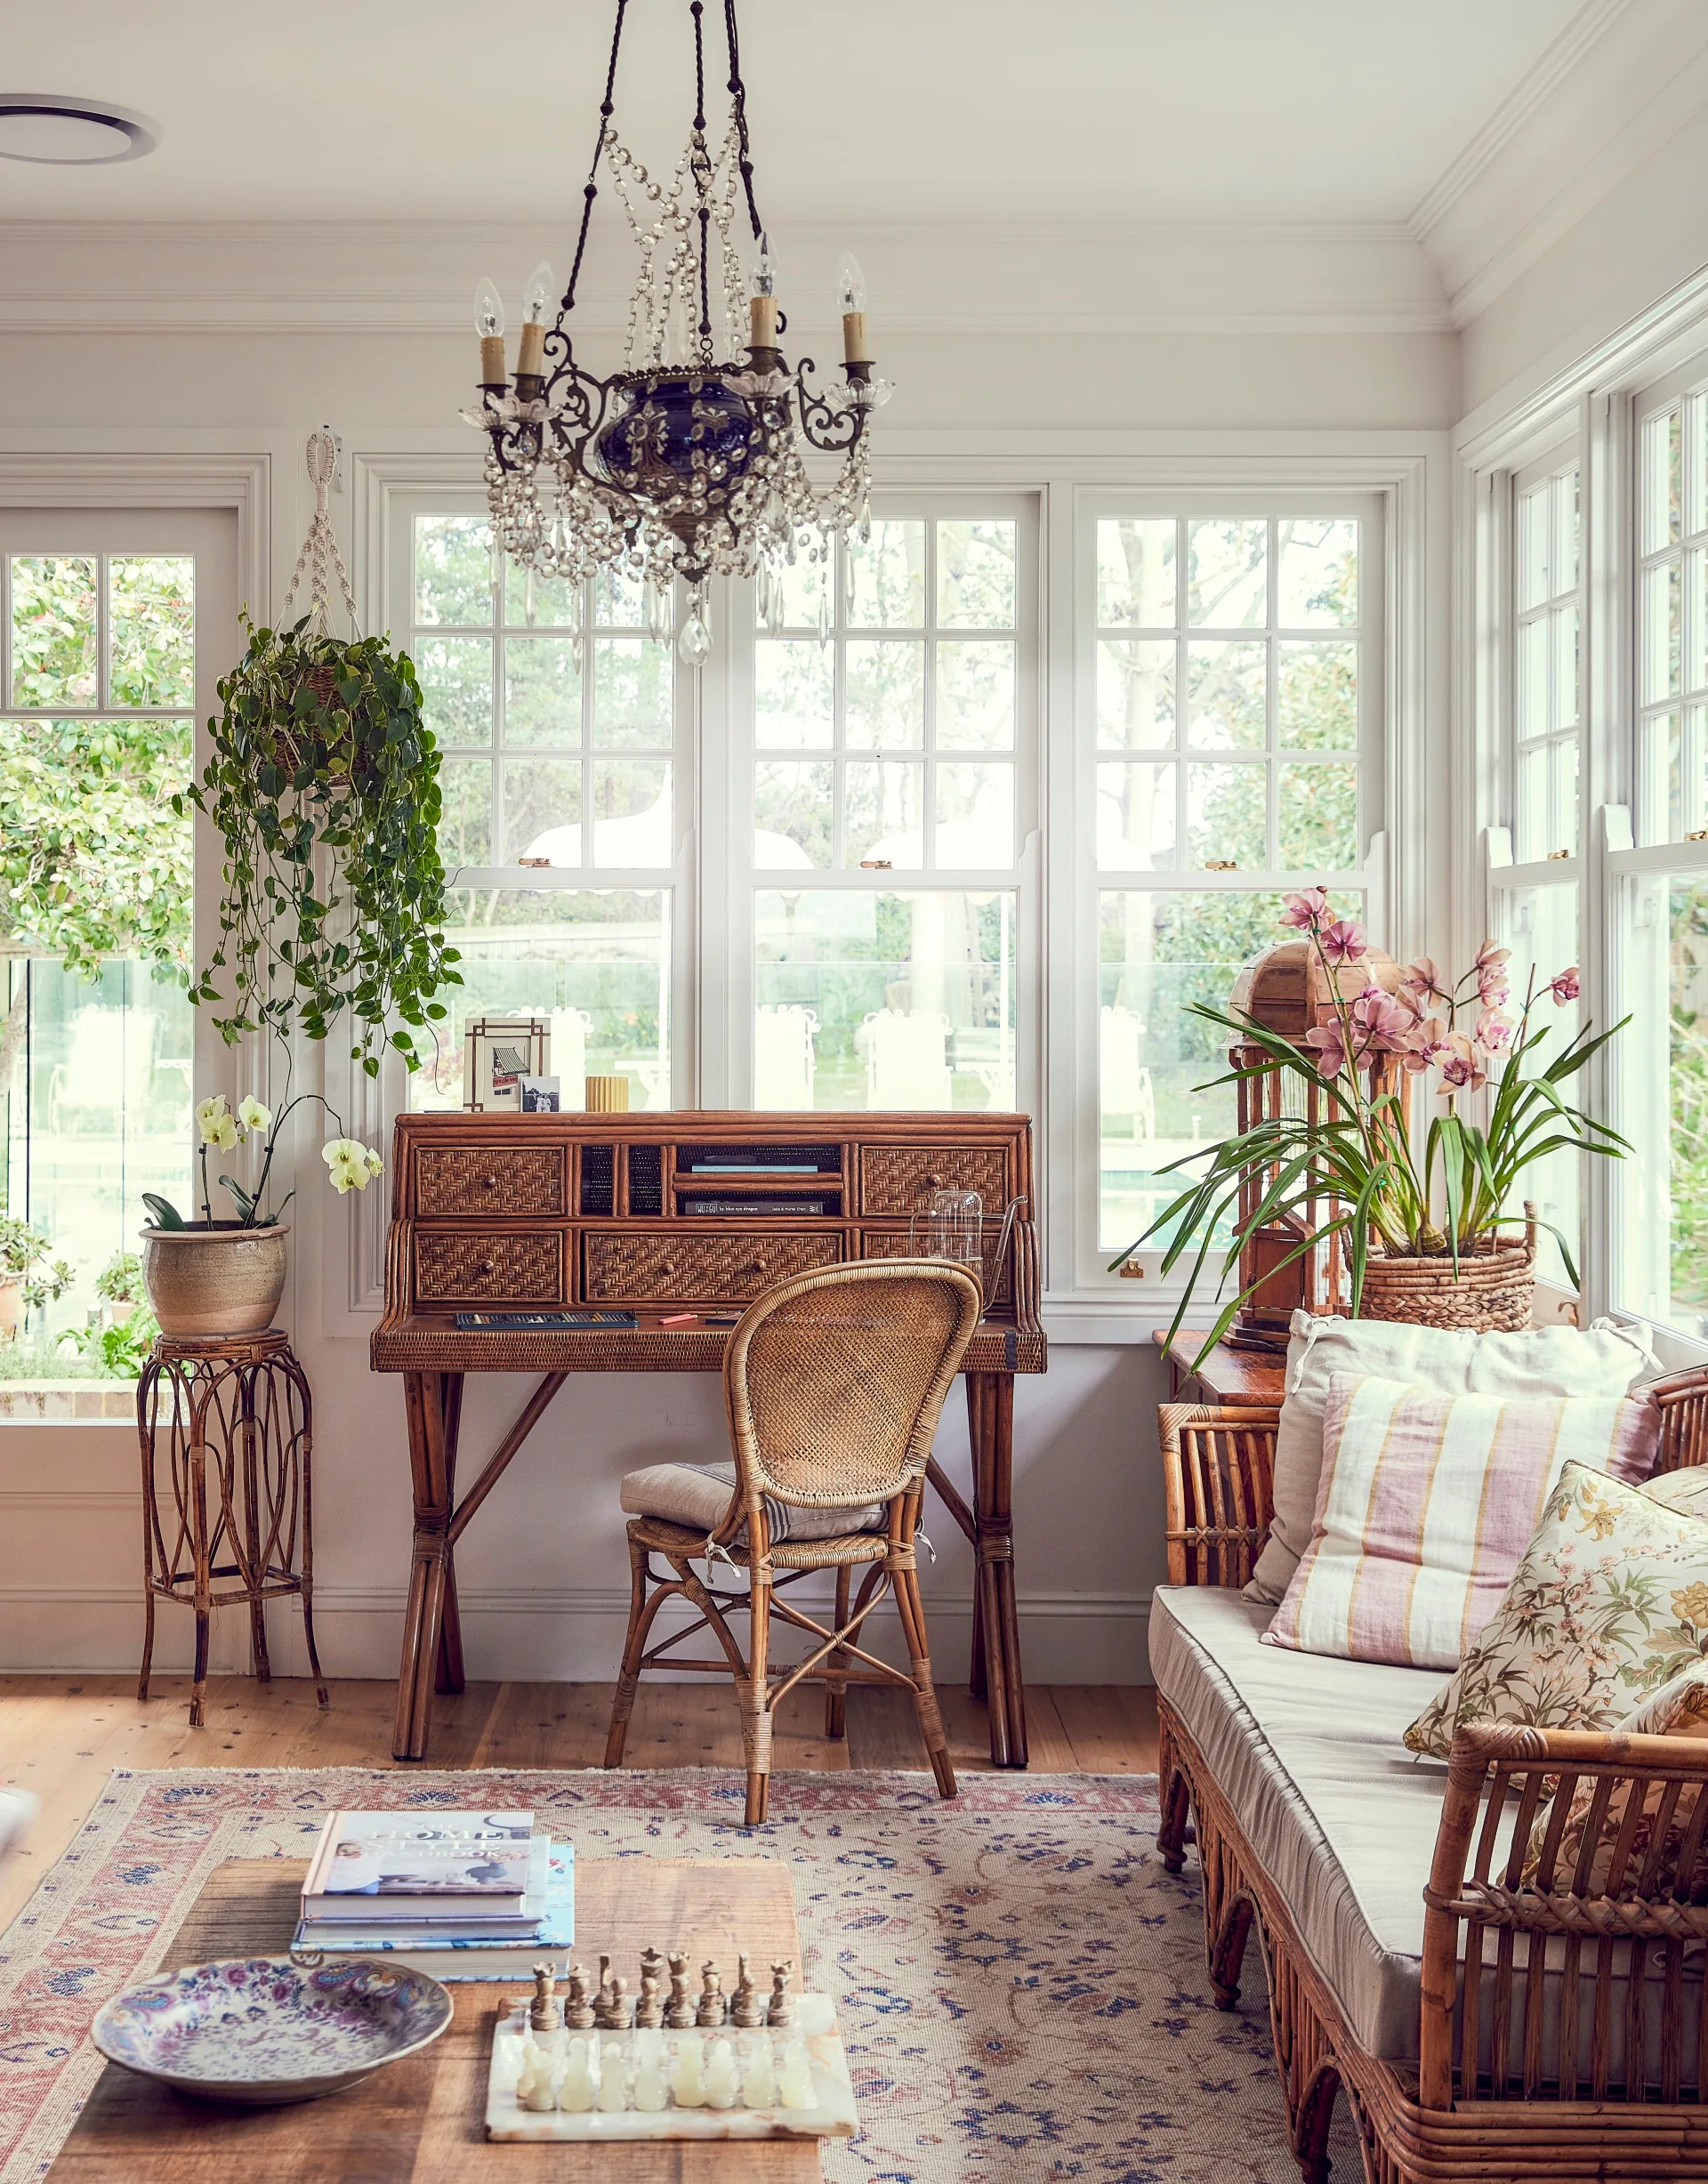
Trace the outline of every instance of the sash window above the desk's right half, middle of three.
<instances>
[{"instance_id":1,"label":"sash window above the desk's right half, middle of three","mask_svg":"<svg viewBox=\"0 0 1708 2184\"><path fill-rule=\"evenodd\" d=\"M885 502L834 559L756 587L732 871L756 1107L1020 1099L1033 529L1024 502Z\"/></svg>"}]
</instances>

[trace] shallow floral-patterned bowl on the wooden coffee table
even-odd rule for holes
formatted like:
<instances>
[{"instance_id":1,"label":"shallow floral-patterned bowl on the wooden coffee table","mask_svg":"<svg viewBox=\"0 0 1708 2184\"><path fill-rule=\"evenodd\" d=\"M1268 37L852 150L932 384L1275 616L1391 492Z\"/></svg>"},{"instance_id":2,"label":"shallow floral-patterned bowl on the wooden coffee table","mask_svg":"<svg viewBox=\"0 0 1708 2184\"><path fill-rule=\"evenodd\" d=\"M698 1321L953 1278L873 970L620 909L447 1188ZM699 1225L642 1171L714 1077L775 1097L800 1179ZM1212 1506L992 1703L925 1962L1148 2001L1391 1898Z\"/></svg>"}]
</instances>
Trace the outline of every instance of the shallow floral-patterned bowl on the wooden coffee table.
<instances>
[{"instance_id":1,"label":"shallow floral-patterned bowl on the wooden coffee table","mask_svg":"<svg viewBox=\"0 0 1708 2184\"><path fill-rule=\"evenodd\" d=\"M317 2101L450 2025L437 1979L347 1957L234 1957L142 1979L90 2027L107 2062L203 2101Z\"/></svg>"}]
</instances>

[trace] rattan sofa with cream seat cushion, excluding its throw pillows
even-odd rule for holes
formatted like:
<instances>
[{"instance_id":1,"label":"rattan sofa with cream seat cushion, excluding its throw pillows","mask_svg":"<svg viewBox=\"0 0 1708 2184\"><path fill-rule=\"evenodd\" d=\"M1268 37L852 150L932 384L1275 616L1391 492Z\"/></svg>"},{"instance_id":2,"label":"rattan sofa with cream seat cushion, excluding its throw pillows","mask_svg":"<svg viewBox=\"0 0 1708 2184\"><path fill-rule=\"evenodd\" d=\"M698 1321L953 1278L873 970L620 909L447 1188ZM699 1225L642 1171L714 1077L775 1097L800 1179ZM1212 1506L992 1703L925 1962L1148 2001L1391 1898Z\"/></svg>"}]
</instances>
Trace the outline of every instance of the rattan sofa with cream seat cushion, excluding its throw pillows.
<instances>
[{"instance_id":1,"label":"rattan sofa with cream seat cushion, excluding its throw pillows","mask_svg":"<svg viewBox=\"0 0 1708 2184\"><path fill-rule=\"evenodd\" d=\"M1653 1393L1662 1470L1708 1461L1708 1374ZM1162 1861L1179 1872L1197 1841L1219 2009L1238 2007L1258 1931L1302 2173L1328 2175L1345 2092L1369 2184L1708 2180L1708 1907L1656 1889L1623 1835L1605 1896L1570 1894L1549 1848L1518 1878L1533 1817L1557 1787L1564 1813L1577 1780L1601 1797L1664 1784L1686 1848L1708 1843L1708 1745L1485 1725L1450 1762L1413 1760L1398 1732L1439 1673L1260 1647L1271 1610L1238 1588L1269 1524L1276 1420L1162 1406L1151 1662Z\"/></svg>"}]
</instances>

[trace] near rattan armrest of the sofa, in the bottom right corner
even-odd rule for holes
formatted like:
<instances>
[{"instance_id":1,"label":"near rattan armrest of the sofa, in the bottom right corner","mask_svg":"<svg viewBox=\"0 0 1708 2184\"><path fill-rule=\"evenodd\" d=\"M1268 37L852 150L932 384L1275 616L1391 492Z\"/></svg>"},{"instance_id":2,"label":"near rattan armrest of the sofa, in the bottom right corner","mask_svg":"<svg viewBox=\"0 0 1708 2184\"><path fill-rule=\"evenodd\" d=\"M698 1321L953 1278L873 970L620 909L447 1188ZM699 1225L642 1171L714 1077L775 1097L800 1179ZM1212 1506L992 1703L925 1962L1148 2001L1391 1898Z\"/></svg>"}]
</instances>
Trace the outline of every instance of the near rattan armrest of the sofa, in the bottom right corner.
<instances>
[{"instance_id":1,"label":"near rattan armrest of the sofa, in the bottom right corner","mask_svg":"<svg viewBox=\"0 0 1708 2184\"><path fill-rule=\"evenodd\" d=\"M1584 1789L1590 1806L1575 1815ZM1590 1874L1590 1856L1601 1863L1594 1845L1605 1848L1599 1874ZM1614 2022L1627 2053L1647 2055L1658 2033L1660 2097L1677 2101L1680 1992L1684 1981L1701 1985L1708 1942L1708 1909L1691 1902L1691 1876L1706 1861L1706 1741L1516 1723L1457 1730L1424 1889L1422 2105L1608 2099ZM1677 1891L1675 1874L1684 1876ZM1618 1942L1660 1950L1664 2001L1647 1977L1625 1977ZM1564 1959L1551 1944L1564 1944ZM1542 2005L1551 1966L1564 1983L1557 2009ZM1581 2001L1579 1979L1594 1983L1592 2003ZM1647 2011L1664 2016L1647 2025ZM1472 2084L1483 2044L1490 2066Z\"/></svg>"}]
</instances>

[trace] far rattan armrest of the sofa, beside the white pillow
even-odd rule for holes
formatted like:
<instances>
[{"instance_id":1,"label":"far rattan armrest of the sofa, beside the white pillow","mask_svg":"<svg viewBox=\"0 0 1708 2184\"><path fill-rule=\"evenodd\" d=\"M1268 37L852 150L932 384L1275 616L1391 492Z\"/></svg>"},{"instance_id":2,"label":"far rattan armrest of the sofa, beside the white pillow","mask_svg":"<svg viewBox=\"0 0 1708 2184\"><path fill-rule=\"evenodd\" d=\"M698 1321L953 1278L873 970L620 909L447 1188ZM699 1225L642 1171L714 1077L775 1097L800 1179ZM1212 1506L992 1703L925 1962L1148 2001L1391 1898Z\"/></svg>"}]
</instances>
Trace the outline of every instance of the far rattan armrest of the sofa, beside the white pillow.
<instances>
[{"instance_id":1,"label":"far rattan armrest of the sofa, beside the white pillow","mask_svg":"<svg viewBox=\"0 0 1708 2184\"><path fill-rule=\"evenodd\" d=\"M1280 1411L1158 1404L1171 1586L1238 1590L1273 1516Z\"/></svg>"}]
</instances>

